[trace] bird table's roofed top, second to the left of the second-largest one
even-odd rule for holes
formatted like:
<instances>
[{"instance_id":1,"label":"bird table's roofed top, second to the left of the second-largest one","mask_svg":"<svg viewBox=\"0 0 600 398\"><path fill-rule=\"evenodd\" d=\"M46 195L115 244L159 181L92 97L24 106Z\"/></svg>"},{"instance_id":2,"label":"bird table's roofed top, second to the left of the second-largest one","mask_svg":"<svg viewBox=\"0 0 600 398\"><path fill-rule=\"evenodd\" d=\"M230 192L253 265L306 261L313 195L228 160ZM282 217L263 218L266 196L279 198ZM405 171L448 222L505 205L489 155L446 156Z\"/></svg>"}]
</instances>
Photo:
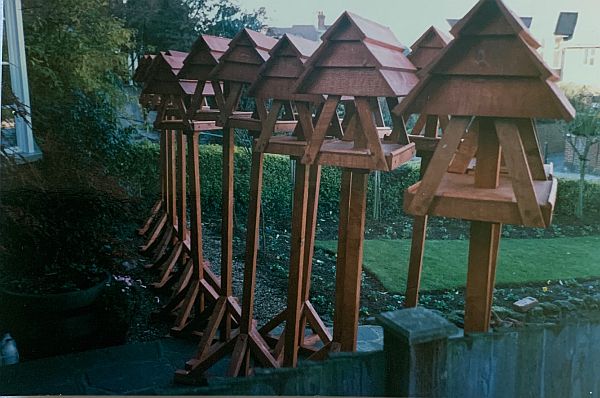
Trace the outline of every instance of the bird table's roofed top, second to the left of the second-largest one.
<instances>
[{"instance_id":1,"label":"bird table's roofed top, second to the left of the second-largest one","mask_svg":"<svg viewBox=\"0 0 600 398\"><path fill-rule=\"evenodd\" d=\"M215 87L216 99L221 104L220 124L260 131L258 110L250 114L251 118L249 115L233 113L238 107L243 88L256 80L259 69L269 59L269 50L276 43L276 39L250 29L242 29L231 40L229 48L209 76L210 80L224 82L222 92ZM228 120L230 117L231 121Z\"/></svg>"}]
</instances>

